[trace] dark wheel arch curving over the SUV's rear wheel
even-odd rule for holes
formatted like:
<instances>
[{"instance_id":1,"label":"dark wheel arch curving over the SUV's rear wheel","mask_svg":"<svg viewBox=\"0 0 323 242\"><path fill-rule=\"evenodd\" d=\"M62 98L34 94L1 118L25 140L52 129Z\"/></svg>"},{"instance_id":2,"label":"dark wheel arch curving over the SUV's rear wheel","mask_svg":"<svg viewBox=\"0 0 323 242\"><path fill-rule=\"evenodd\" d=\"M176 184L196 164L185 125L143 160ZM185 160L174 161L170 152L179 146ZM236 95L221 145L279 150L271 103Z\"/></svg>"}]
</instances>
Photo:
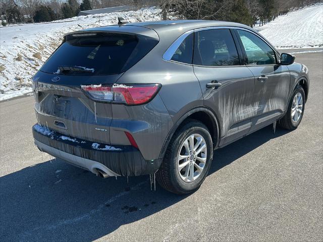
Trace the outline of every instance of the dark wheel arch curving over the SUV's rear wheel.
<instances>
[{"instance_id":1,"label":"dark wheel arch curving over the SUV's rear wheel","mask_svg":"<svg viewBox=\"0 0 323 242\"><path fill-rule=\"evenodd\" d=\"M218 147L221 134L219 119L210 108L206 106L199 106L190 109L177 120L164 142L163 148L161 149L159 154L159 158L164 158L165 152L171 139L173 138L173 135L185 123L185 120L187 119L195 119L203 123L209 129L213 141L213 148Z\"/></svg>"}]
</instances>

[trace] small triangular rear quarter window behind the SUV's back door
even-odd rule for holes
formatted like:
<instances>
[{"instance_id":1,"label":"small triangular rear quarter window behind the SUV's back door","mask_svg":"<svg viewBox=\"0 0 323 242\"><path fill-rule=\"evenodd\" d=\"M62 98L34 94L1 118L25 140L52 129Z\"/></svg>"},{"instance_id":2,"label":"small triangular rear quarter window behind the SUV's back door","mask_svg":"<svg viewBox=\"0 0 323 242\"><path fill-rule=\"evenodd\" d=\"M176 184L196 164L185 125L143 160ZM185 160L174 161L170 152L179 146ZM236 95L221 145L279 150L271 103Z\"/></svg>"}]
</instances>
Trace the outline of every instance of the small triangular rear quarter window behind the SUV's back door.
<instances>
[{"instance_id":1,"label":"small triangular rear quarter window behind the SUV's back door","mask_svg":"<svg viewBox=\"0 0 323 242\"><path fill-rule=\"evenodd\" d=\"M194 33L187 36L175 51L172 61L192 64Z\"/></svg>"}]
</instances>

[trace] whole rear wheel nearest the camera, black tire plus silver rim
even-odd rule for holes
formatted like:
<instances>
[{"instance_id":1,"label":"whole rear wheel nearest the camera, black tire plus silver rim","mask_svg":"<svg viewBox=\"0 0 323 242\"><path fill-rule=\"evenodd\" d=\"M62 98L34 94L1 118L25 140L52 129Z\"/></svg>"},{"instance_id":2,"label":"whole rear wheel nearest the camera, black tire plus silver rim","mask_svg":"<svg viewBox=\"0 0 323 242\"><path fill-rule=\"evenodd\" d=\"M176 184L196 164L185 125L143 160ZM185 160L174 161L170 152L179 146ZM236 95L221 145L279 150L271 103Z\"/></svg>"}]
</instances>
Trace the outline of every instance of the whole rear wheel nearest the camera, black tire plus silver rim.
<instances>
[{"instance_id":1,"label":"whole rear wheel nearest the camera, black tire plus silver rim","mask_svg":"<svg viewBox=\"0 0 323 242\"><path fill-rule=\"evenodd\" d=\"M190 142L191 140L193 142ZM191 146L192 143L193 146ZM185 158L180 160L182 157ZM190 119L173 135L163 163L156 172L157 182L172 193L192 193L203 183L210 169L212 158L213 143L208 129L201 122Z\"/></svg>"}]
</instances>

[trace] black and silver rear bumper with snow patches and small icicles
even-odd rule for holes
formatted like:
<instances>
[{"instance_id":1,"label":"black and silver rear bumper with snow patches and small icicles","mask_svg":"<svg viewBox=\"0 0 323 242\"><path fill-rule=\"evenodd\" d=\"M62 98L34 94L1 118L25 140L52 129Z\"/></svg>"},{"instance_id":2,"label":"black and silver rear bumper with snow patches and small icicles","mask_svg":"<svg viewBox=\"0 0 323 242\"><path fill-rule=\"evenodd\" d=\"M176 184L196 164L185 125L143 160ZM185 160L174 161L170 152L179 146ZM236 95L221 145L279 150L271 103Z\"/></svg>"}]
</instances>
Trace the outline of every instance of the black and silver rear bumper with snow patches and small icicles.
<instances>
[{"instance_id":1,"label":"black and silver rear bumper with snow patches and small icicles","mask_svg":"<svg viewBox=\"0 0 323 242\"><path fill-rule=\"evenodd\" d=\"M39 150L93 173L100 169L110 176L151 174L161 163L159 159L145 160L140 151L132 146L112 147L66 137L38 124L33 126L32 132Z\"/></svg>"}]
</instances>

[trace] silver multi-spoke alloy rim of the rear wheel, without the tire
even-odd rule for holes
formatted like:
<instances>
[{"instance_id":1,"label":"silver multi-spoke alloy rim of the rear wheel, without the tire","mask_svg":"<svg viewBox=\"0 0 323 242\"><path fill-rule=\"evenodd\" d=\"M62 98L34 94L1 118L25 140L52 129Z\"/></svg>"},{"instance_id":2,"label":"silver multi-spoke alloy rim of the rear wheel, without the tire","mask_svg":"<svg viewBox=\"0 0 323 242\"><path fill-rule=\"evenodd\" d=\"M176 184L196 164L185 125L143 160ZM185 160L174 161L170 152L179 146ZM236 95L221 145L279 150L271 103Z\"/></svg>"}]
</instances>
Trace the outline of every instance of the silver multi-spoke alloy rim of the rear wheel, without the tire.
<instances>
[{"instance_id":1,"label":"silver multi-spoke alloy rim of the rear wheel, without the tire","mask_svg":"<svg viewBox=\"0 0 323 242\"><path fill-rule=\"evenodd\" d=\"M177 168L182 180L194 181L203 171L207 157L207 148L203 137L190 135L180 149Z\"/></svg>"}]
</instances>

